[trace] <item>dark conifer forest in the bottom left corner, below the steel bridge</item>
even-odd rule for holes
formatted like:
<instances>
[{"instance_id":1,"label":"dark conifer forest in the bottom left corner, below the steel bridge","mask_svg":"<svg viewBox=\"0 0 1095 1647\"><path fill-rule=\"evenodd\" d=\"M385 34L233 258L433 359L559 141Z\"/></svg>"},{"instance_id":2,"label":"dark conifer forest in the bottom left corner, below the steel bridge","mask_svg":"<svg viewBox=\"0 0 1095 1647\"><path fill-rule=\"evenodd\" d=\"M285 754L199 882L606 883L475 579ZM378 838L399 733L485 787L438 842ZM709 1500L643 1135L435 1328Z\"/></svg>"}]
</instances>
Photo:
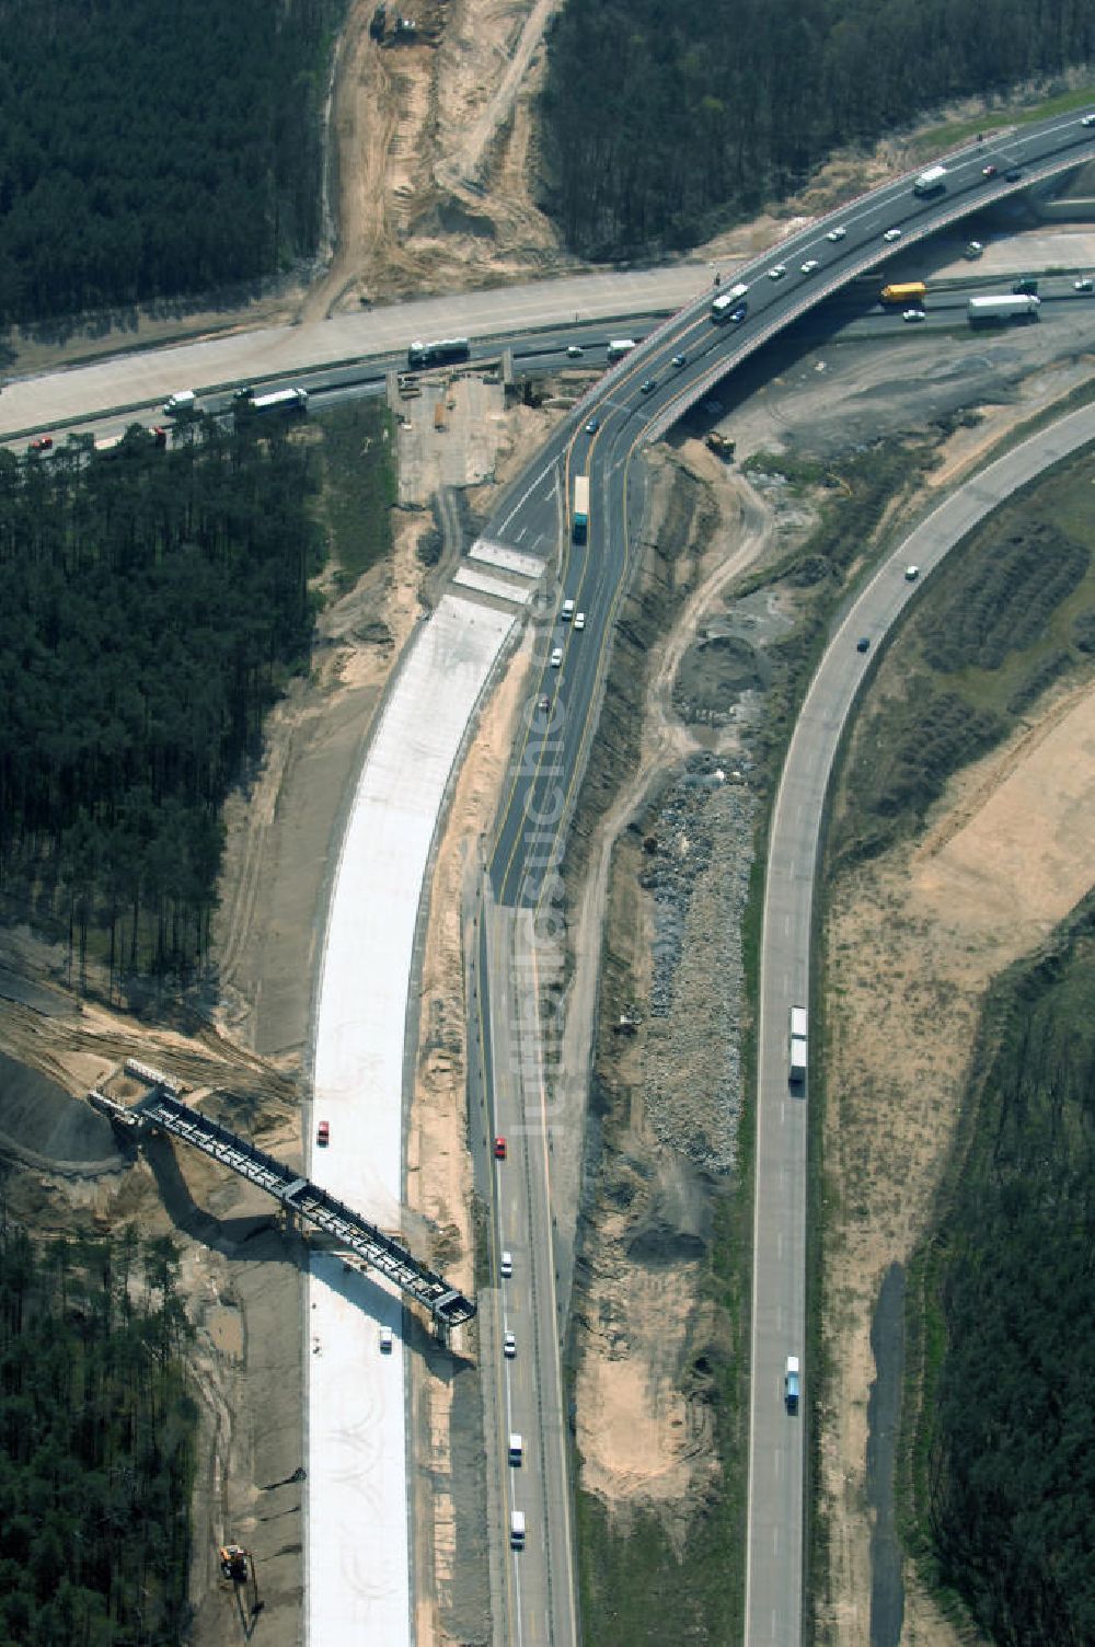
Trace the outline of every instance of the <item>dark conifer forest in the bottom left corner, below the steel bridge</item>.
<instances>
[{"instance_id":1,"label":"dark conifer forest in the bottom left corner, below the steel bridge","mask_svg":"<svg viewBox=\"0 0 1095 1647\"><path fill-rule=\"evenodd\" d=\"M168 1240L0 1227L0 1640L186 1639L196 1407Z\"/></svg>"}]
</instances>

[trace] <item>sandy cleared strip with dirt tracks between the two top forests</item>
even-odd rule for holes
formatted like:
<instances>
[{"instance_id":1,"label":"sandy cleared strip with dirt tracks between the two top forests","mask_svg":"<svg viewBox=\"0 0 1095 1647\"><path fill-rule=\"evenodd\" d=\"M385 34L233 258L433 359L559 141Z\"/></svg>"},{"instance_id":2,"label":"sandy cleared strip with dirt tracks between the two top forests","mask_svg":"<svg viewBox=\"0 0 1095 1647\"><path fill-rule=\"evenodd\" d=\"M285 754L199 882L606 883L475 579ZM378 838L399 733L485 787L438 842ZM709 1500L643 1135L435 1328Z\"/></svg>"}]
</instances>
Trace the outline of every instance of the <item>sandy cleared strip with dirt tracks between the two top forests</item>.
<instances>
[{"instance_id":1,"label":"sandy cleared strip with dirt tracks between the two top forests","mask_svg":"<svg viewBox=\"0 0 1095 1647\"><path fill-rule=\"evenodd\" d=\"M418 0L403 15L420 41L380 44L374 0L354 0L333 97L336 250L301 320L575 267L530 194L530 109L558 5Z\"/></svg>"}]
</instances>

